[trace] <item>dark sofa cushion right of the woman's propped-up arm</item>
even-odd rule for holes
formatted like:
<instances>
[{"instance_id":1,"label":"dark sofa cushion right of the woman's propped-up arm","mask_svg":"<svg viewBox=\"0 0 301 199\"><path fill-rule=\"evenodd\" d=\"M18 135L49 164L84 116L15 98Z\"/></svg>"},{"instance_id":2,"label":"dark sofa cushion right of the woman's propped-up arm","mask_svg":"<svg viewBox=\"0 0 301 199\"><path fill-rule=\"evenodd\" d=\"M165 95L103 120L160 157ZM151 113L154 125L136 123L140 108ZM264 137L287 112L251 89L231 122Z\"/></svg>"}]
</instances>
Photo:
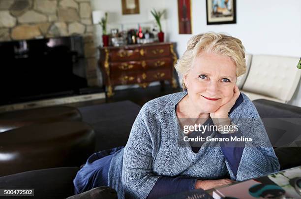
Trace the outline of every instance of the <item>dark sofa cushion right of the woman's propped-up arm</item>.
<instances>
[{"instance_id":1,"label":"dark sofa cushion right of the woman's propped-up arm","mask_svg":"<svg viewBox=\"0 0 301 199\"><path fill-rule=\"evenodd\" d=\"M253 100L262 118L280 169L301 165L301 107L270 101Z\"/></svg>"}]
</instances>

